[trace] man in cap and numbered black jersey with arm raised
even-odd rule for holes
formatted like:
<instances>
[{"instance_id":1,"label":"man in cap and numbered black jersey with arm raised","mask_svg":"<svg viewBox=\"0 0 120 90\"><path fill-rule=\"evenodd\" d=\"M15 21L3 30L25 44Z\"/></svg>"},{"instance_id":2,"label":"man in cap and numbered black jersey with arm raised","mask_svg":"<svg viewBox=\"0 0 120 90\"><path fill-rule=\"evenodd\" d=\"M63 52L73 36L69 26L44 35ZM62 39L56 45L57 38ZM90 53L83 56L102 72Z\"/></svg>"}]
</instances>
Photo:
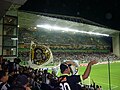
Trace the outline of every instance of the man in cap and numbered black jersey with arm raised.
<instances>
[{"instance_id":1,"label":"man in cap and numbered black jersey with arm raised","mask_svg":"<svg viewBox=\"0 0 120 90\"><path fill-rule=\"evenodd\" d=\"M85 80L88 78L91 71L91 66L96 63L97 63L96 60L90 61L82 76L70 75L71 73L70 66L74 65L73 62L62 63L60 65L60 70L63 75L59 77L60 82L59 85L61 86L61 90L81 90L81 87L78 83L81 82L81 80Z\"/></svg>"}]
</instances>

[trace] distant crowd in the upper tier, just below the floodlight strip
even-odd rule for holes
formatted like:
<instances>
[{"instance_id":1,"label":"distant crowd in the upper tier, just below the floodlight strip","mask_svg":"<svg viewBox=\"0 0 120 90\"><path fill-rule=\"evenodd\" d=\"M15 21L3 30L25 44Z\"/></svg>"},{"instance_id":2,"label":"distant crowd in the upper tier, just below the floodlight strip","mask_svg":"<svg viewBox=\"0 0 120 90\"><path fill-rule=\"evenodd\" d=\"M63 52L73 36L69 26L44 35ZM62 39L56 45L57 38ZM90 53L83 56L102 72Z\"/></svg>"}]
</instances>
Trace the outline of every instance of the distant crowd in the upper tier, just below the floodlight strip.
<instances>
[{"instance_id":1,"label":"distant crowd in the upper tier, just below the floodlight strip","mask_svg":"<svg viewBox=\"0 0 120 90\"><path fill-rule=\"evenodd\" d=\"M106 46L110 45L108 42L109 37L96 37L93 35L82 35L79 33L58 33L58 32L46 32L44 30L24 30L19 31L19 42L22 43L47 43L50 44L81 44L81 45L97 45ZM42 38L42 39L41 39Z\"/></svg>"}]
</instances>

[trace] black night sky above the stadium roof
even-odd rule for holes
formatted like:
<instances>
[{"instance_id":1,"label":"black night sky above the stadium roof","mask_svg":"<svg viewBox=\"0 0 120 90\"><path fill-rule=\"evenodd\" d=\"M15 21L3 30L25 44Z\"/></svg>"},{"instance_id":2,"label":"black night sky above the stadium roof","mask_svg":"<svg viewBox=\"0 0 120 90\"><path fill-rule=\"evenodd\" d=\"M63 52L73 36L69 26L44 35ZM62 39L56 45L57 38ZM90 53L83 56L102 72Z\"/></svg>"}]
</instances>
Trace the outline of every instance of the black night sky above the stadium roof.
<instances>
[{"instance_id":1,"label":"black night sky above the stadium roof","mask_svg":"<svg viewBox=\"0 0 120 90\"><path fill-rule=\"evenodd\" d=\"M120 30L119 0L27 0L19 10Z\"/></svg>"}]
</instances>

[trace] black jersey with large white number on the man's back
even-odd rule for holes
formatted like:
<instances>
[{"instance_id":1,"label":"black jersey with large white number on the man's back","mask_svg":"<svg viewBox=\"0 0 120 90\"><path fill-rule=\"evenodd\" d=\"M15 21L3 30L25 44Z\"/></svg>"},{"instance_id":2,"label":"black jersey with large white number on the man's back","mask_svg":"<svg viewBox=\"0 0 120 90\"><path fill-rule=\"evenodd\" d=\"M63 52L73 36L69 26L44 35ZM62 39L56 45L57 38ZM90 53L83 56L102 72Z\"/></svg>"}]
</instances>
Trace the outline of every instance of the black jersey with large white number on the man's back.
<instances>
[{"instance_id":1,"label":"black jersey with large white number on the man's back","mask_svg":"<svg viewBox=\"0 0 120 90\"><path fill-rule=\"evenodd\" d=\"M61 76L59 77L61 90L81 90L80 85L81 82L80 75L72 75L72 76Z\"/></svg>"}]
</instances>

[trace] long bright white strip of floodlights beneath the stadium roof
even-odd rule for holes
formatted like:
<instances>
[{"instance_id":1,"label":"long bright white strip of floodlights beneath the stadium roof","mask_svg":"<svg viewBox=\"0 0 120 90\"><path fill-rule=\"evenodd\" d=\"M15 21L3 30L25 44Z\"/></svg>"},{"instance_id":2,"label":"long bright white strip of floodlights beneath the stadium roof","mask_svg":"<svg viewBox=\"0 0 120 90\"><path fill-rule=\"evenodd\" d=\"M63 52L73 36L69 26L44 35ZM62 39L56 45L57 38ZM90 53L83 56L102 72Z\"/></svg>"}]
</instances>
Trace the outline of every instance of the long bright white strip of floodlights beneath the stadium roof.
<instances>
[{"instance_id":1,"label":"long bright white strip of floodlights beneath the stadium roof","mask_svg":"<svg viewBox=\"0 0 120 90\"><path fill-rule=\"evenodd\" d=\"M92 34L92 35L100 35L100 36L109 36L108 34L102 34L102 33L97 33L97 32L87 32L87 31L82 31L82 30L77 30L77 29L70 29L70 28L63 28L59 26L52 26L49 24L44 24L44 25L37 25L37 27L40 28L45 28L49 30L57 30L57 31L62 31L62 32L76 32L76 33L85 33L85 34Z\"/></svg>"}]
</instances>

